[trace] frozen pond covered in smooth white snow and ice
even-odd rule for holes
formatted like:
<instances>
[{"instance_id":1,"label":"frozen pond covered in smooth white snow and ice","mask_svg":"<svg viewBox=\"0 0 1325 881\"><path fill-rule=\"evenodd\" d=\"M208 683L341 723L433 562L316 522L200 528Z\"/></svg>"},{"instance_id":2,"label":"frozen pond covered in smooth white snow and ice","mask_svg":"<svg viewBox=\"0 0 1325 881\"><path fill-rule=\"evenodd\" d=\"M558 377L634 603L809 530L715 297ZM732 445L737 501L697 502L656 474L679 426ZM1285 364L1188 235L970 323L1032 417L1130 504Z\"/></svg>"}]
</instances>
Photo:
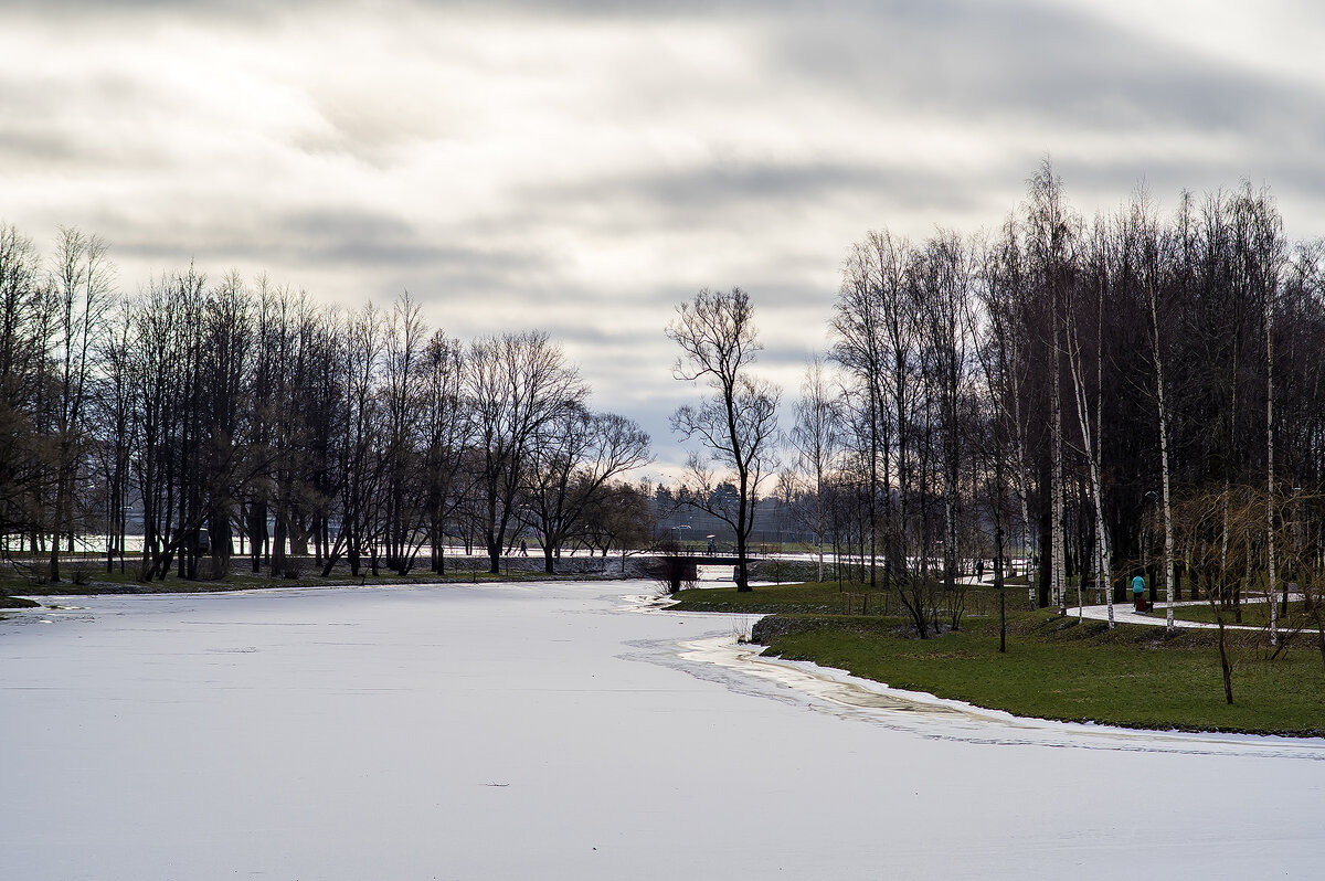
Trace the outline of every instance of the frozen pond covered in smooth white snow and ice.
<instances>
[{"instance_id":1,"label":"frozen pond covered in smooth white snow and ice","mask_svg":"<svg viewBox=\"0 0 1325 881\"><path fill-rule=\"evenodd\" d=\"M648 584L0 621L0 878L1318 877L1325 749L751 665Z\"/></svg>"}]
</instances>

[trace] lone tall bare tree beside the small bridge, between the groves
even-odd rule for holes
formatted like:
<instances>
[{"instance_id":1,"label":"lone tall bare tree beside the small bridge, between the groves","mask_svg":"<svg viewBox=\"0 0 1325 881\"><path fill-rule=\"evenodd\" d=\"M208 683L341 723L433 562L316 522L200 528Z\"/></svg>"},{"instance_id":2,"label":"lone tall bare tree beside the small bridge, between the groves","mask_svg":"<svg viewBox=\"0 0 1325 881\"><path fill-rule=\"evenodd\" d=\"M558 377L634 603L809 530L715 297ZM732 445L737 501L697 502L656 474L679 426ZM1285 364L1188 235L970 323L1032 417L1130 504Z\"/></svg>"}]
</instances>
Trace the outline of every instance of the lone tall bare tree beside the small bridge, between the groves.
<instances>
[{"instance_id":1,"label":"lone tall bare tree beside the small bridge, between the groves","mask_svg":"<svg viewBox=\"0 0 1325 881\"><path fill-rule=\"evenodd\" d=\"M759 485L772 470L780 396L775 386L749 372L762 348L754 306L739 287L729 293L704 289L693 301L677 306L666 335L682 352L672 375L684 382L704 380L713 392L697 407L685 405L672 415L672 431L684 440L697 439L709 452L706 458L690 456L690 503L731 526L737 537L737 591L749 591L747 543ZM718 481L708 468L710 462L734 477L731 503L714 494Z\"/></svg>"}]
</instances>

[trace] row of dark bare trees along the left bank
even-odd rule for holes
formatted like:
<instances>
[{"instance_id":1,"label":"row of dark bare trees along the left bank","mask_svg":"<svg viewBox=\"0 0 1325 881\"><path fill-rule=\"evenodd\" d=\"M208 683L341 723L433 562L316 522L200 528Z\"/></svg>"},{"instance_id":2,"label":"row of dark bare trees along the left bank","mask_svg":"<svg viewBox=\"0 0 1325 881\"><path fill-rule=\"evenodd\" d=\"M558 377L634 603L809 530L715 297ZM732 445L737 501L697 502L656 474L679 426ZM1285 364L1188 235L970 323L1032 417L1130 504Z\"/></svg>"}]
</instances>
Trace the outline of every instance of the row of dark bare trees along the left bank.
<instances>
[{"instance_id":1,"label":"row of dark bare trees along the left bank","mask_svg":"<svg viewBox=\"0 0 1325 881\"><path fill-rule=\"evenodd\" d=\"M139 523L142 579L219 576L236 544L253 571L293 551L358 575L440 572L462 541L496 572L522 534L551 572L647 531L623 478L649 439L588 397L542 333L464 342L408 294L342 314L192 266L123 298L101 240L42 260L0 228L0 541L53 580L76 534L123 567Z\"/></svg>"}]
</instances>

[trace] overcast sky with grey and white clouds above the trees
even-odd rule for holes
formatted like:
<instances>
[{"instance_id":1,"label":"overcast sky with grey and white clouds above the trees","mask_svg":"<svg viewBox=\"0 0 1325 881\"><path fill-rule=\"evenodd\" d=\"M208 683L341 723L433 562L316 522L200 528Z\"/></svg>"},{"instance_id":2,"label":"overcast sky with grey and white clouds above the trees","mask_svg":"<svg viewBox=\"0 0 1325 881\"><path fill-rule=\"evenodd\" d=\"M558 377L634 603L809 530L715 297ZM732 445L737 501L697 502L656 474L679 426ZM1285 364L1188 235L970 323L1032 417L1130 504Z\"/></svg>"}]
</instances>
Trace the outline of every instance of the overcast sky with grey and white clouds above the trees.
<instances>
[{"instance_id":1,"label":"overcast sky with grey and white clouds above the trees","mask_svg":"<svg viewBox=\"0 0 1325 881\"><path fill-rule=\"evenodd\" d=\"M790 404L869 229L994 228L1051 155L1088 217L1247 178L1314 237L1322 144L1313 0L0 0L0 221L99 233L127 293L193 258L543 329L655 473L700 287Z\"/></svg>"}]
</instances>

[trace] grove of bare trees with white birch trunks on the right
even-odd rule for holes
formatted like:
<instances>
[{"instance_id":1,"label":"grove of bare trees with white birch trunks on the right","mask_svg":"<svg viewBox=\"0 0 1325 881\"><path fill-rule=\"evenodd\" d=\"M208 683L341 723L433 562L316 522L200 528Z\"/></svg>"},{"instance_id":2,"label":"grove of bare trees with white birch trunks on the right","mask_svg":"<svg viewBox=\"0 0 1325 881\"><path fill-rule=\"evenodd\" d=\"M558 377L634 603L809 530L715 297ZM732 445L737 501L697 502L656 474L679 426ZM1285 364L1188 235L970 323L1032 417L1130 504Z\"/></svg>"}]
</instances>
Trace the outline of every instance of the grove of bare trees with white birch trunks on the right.
<instances>
[{"instance_id":1,"label":"grove of bare trees with white birch trunks on the right","mask_svg":"<svg viewBox=\"0 0 1325 881\"><path fill-rule=\"evenodd\" d=\"M1138 572L1191 595L1174 518L1208 492L1260 492L1253 578L1283 605L1283 509L1325 525L1325 245L1249 184L1086 221L1045 162L991 234L852 245L831 331L790 433L803 509L922 635L980 558L1000 587L1032 564L1037 605Z\"/></svg>"}]
</instances>

